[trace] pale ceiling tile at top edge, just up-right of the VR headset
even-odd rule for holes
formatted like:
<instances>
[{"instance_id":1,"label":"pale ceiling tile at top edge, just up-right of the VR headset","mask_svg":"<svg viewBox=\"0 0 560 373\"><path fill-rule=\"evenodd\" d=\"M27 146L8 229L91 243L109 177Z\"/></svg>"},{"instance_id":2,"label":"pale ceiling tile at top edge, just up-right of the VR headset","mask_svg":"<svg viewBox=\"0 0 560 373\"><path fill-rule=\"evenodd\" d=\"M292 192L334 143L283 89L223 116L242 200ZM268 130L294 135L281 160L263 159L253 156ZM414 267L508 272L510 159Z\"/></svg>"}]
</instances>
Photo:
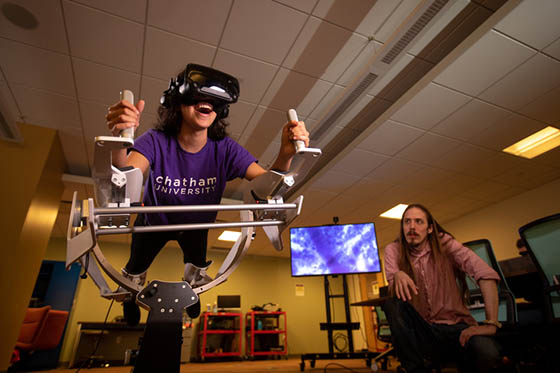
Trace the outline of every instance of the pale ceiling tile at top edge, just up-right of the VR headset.
<instances>
[{"instance_id":1,"label":"pale ceiling tile at top edge, just up-right of the VR headset","mask_svg":"<svg viewBox=\"0 0 560 373\"><path fill-rule=\"evenodd\" d=\"M236 1L220 46L279 65L306 19L305 14L269 0Z\"/></svg>"}]
</instances>

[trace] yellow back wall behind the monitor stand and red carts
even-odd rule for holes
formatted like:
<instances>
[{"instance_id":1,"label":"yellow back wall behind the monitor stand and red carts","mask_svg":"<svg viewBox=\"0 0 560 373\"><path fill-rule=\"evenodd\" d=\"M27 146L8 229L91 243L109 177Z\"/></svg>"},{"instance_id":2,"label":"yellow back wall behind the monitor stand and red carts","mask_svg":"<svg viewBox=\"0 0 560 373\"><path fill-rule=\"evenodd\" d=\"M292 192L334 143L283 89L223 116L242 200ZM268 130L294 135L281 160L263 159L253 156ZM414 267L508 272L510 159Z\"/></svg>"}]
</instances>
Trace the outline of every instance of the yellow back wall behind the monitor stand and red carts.
<instances>
[{"instance_id":1,"label":"yellow back wall behind the monitor stand and red carts","mask_svg":"<svg viewBox=\"0 0 560 373\"><path fill-rule=\"evenodd\" d=\"M261 232L262 233L262 232ZM46 259L65 260L66 242L62 239L52 239L47 251ZM129 246L118 243L101 243L101 249L109 262L117 269L126 263ZM214 276L221 265L224 253L210 251L209 258L214 260L210 275ZM148 280L161 279L178 281L183 274L181 250L168 244L158 255L148 271ZM359 299L359 288L354 287L354 276L348 276L351 301ZM341 292L341 277L329 278L332 291ZM295 295L295 285L303 284L305 296ZM301 354L313 352L328 352L327 334L319 329L319 323L326 321L323 277L292 278L290 275L289 259L246 256L229 279L201 295L202 308L207 303L216 301L217 295L241 295L241 311L250 310L254 305L273 302L280 305L287 312L288 321L288 353ZM355 297L356 295L356 297ZM343 302L336 299L334 304L334 320L345 321ZM99 291L91 279L80 280L76 292L75 305L70 315L69 329L65 336L61 362L69 362L72 358L76 327L78 321L103 321L110 301L99 296ZM359 320L361 309L352 307L352 320ZM122 307L115 303L112 306L108 320L122 315ZM142 320L147 313L142 310ZM362 322L363 325L363 322ZM364 337L362 337L364 335ZM365 346L365 333L354 336L354 346L360 349ZM243 342L245 343L245 342ZM243 347L244 351L245 347Z\"/></svg>"}]
</instances>

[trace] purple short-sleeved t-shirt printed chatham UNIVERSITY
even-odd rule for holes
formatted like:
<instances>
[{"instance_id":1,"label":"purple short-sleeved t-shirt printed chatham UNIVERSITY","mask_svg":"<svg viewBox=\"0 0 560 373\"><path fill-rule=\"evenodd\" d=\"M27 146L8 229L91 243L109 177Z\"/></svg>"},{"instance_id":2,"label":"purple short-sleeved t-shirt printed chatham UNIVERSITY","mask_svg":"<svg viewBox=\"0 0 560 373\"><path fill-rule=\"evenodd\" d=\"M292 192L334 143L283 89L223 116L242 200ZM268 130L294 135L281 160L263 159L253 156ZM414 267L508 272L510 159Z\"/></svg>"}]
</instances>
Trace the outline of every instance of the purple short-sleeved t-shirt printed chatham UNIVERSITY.
<instances>
[{"instance_id":1,"label":"purple short-sleeved t-shirt printed chatham UNIVERSITY","mask_svg":"<svg viewBox=\"0 0 560 373\"><path fill-rule=\"evenodd\" d=\"M256 161L229 137L208 138L198 153L189 153L174 136L149 130L134 142L133 150L150 162L144 189L145 206L219 204L226 181L244 177ZM215 211L146 214L146 225L205 223L216 220Z\"/></svg>"}]
</instances>

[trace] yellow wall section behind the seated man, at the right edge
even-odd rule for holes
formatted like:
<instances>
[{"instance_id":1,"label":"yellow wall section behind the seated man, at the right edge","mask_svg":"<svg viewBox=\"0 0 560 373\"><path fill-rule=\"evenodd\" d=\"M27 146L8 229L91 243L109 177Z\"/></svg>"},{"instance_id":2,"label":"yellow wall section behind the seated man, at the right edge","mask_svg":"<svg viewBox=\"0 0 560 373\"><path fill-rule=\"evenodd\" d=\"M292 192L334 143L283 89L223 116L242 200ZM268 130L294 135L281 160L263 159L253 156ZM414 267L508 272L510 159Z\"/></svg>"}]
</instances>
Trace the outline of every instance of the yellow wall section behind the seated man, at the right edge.
<instances>
[{"instance_id":1,"label":"yellow wall section behind the seated man, at the right edge","mask_svg":"<svg viewBox=\"0 0 560 373\"><path fill-rule=\"evenodd\" d=\"M487 238L498 260L518 256L519 227L560 212L560 179L445 224L461 242Z\"/></svg>"}]
</instances>

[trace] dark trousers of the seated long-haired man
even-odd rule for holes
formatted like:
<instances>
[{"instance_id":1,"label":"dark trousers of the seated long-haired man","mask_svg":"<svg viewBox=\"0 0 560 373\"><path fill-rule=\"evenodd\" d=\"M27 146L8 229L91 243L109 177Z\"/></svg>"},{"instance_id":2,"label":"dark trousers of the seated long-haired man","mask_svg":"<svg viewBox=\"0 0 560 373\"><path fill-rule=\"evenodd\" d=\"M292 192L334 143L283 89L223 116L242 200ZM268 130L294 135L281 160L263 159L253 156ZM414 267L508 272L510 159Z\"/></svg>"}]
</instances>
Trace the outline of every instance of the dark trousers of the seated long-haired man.
<instances>
[{"instance_id":1,"label":"dark trousers of the seated long-haired man","mask_svg":"<svg viewBox=\"0 0 560 373\"><path fill-rule=\"evenodd\" d=\"M459 343L467 324L429 324L408 302L390 298L383 310L391 327L393 347L407 373L431 372L430 363L457 362L462 372L490 372L501 362L492 337L474 336Z\"/></svg>"}]
</instances>

